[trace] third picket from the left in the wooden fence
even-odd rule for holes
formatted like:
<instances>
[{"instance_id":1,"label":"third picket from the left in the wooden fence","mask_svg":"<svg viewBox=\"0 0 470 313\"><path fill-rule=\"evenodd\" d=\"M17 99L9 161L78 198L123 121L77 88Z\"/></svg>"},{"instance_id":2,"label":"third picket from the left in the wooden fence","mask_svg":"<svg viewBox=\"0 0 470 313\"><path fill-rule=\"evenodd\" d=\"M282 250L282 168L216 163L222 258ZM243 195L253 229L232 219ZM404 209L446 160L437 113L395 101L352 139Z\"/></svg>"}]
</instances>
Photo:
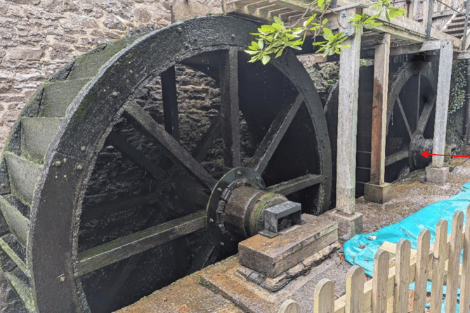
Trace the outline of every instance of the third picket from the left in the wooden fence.
<instances>
[{"instance_id":1,"label":"third picket from the left in the wooden fence","mask_svg":"<svg viewBox=\"0 0 470 313\"><path fill-rule=\"evenodd\" d=\"M346 274L346 313L362 313L364 269L354 265Z\"/></svg>"}]
</instances>

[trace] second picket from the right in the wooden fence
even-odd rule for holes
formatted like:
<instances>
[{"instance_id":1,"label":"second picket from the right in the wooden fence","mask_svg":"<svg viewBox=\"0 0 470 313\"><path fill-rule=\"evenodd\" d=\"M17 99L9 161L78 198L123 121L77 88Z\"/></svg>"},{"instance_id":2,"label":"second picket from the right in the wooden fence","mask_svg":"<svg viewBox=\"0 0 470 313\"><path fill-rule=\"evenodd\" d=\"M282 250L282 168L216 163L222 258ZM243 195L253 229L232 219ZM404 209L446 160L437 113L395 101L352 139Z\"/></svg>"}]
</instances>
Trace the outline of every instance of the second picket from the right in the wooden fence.
<instances>
[{"instance_id":1,"label":"second picket from the right in the wooden fence","mask_svg":"<svg viewBox=\"0 0 470 313\"><path fill-rule=\"evenodd\" d=\"M462 251L463 246L463 228L464 212L457 211L452 217L452 234L450 235L447 289L445 292L445 313L455 313L455 310L457 309L457 288L459 288L459 264L460 252Z\"/></svg>"}]
</instances>

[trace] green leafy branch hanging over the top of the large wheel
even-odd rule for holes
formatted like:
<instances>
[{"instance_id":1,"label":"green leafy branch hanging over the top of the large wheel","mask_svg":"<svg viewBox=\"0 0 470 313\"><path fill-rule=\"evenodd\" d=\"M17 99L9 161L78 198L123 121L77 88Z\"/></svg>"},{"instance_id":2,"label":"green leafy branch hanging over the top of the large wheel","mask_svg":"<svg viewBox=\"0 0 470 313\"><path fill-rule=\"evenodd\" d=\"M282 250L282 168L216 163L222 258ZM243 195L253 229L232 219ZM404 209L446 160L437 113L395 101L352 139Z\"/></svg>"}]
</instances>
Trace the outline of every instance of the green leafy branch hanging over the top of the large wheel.
<instances>
[{"instance_id":1,"label":"green leafy branch hanging over the top of the large wheel","mask_svg":"<svg viewBox=\"0 0 470 313\"><path fill-rule=\"evenodd\" d=\"M315 39L322 36L324 41L314 41L313 46L318 46L317 53L323 56L332 56L333 54L341 54L341 49L348 49L350 46L344 44L348 37L344 32L334 32L327 27L328 19L325 14L330 11L331 0L314 0L308 4L305 13L294 23L287 27L284 22L277 16L273 18L274 23L270 25L261 25L258 32L252 33L256 39L245 50L252 55L249 62L253 63L261 60L263 64L267 64L271 58L278 58L288 49L301 50L306 37L310 33ZM391 6L390 0L379 0L374 2L370 8L377 10L373 15L367 13L355 14L349 19L351 27L355 27L356 32L360 32L363 27L377 27L382 25L377 19L385 12L385 18L390 22L391 18L401 16L406 13L403 8ZM307 20L303 22L301 27L296 27L308 13L315 11ZM334 13L337 14L337 13Z\"/></svg>"}]
</instances>

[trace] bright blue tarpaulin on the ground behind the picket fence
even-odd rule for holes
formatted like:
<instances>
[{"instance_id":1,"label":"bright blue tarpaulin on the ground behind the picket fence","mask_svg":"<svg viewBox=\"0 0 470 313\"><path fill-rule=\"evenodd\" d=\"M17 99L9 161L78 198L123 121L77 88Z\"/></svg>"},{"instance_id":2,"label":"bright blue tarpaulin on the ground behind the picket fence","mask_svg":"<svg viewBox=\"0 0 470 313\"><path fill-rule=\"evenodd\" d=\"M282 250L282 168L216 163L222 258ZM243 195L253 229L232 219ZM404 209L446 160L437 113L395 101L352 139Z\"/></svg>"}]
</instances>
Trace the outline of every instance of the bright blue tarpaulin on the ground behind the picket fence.
<instances>
[{"instance_id":1,"label":"bright blue tarpaulin on the ground behind the picket fence","mask_svg":"<svg viewBox=\"0 0 470 313\"><path fill-rule=\"evenodd\" d=\"M344 257L351 264L358 264L360 267L363 267L365 272L372 276L374 255L384 241L398 243L401 238L405 238L410 241L412 249L417 249L419 232L422 229L429 229L431 231L431 244L433 244L438 221L440 219L448 221L448 234L450 234L452 216L455 211L464 211L464 215L466 215L466 207L469 204L470 183L467 183L462 186L462 192L457 195L423 207L396 224L386 226L370 234L354 236L344 243ZM464 217L464 221L465 219L466 217ZM445 306L443 305L443 307Z\"/></svg>"}]
</instances>

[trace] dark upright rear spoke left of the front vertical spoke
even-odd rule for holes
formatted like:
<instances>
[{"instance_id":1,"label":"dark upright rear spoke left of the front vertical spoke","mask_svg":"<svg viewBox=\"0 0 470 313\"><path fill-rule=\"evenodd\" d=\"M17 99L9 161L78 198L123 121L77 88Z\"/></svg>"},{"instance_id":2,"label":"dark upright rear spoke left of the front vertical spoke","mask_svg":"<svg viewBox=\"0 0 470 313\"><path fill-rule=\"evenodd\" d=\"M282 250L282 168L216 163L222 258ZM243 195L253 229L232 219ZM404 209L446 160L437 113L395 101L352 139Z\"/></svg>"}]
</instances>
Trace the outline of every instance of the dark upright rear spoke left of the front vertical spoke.
<instances>
[{"instance_id":1,"label":"dark upright rear spoke left of the front vertical spoke","mask_svg":"<svg viewBox=\"0 0 470 313\"><path fill-rule=\"evenodd\" d=\"M175 67L162 72L162 101L163 101L163 120L165 130L179 141L178 127L178 93L176 91Z\"/></svg>"}]
</instances>

